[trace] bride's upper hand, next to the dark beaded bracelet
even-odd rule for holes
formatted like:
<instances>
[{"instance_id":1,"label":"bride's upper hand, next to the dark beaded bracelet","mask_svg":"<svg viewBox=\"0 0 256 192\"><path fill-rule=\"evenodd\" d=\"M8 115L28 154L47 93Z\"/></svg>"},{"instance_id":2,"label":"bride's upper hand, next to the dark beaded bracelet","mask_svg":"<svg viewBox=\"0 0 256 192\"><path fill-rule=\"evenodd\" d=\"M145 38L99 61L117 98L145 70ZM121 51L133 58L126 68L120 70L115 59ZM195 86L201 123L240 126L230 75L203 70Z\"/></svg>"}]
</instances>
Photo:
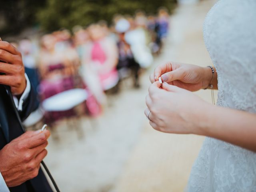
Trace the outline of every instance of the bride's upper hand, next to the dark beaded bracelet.
<instances>
[{"instance_id":1,"label":"bride's upper hand, next to the dark beaded bracelet","mask_svg":"<svg viewBox=\"0 0 256 192\"><path fill-rule=\"evenodd\" d=\"M190 91L206 88L211 81L212 72L209 68L179 62L159 65L150 75L151 83L162 77L164 82Z\"/></svg>"}]
</instances>

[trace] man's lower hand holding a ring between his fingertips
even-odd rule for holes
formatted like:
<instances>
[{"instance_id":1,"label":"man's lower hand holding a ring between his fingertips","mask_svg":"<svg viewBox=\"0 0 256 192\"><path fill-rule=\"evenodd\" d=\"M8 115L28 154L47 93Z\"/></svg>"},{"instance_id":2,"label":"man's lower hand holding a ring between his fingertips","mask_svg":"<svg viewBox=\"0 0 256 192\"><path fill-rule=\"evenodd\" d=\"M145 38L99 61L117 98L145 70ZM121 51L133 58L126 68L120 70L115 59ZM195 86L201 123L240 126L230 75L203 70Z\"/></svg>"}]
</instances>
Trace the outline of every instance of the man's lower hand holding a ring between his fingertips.
<instances>
[{"instance_id":1,"label":"man's lower hand holding a ring between his fingertips","mask_svg":"<svg viewBox=\"0 0 256 192\"><path fill-rule=\"evenodd\" d=\"M0 172L8 187L18 186L38 175L50 136L48 130L28 131L0 150Z\"/></svg>"}]
</instances>

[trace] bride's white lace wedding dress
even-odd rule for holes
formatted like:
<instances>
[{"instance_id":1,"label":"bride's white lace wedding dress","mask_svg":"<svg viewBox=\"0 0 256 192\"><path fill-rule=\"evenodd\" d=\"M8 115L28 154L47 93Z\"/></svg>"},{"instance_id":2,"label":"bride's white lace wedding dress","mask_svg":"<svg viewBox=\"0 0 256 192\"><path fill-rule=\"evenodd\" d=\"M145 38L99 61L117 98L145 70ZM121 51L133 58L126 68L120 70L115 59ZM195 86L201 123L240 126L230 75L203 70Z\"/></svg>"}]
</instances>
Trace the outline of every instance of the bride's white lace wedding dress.
<instances>
[{"instance_id":1,"label":"bride's white lace wedding dress","mask_svg":"<svg viewBox=\"0 0 256 192\"><path fill-rule=\"evenodd\" d=\"M204 40L218 72L217 105L256 113L256 0L218 1ZM256 153L206 138L187 191L256 192Z\"/></svg>"}]
</instances>

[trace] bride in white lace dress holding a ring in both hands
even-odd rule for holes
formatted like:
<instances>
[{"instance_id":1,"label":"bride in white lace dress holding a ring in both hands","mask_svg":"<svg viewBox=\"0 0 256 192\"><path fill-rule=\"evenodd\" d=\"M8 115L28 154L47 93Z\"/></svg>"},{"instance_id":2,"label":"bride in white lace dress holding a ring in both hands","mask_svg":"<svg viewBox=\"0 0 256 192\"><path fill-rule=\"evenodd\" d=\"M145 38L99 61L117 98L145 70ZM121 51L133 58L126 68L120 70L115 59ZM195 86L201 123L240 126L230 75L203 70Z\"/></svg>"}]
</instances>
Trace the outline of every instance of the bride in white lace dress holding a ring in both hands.
<instances>
[{"instance_id":1,"label":"bride in white lace dress holding a ring in both hands","mask_svg":"<svg viewBox=\"0 0 256 192\"><path fill-rule=\"evenodd\" d=\"M156 130L208 136L188 192L256 192L256 0L218 1L206 16L204 40L215 67L158 66L145 114ZM188 91L211 85L217 106Z\"/></svg>"}]
</instances>

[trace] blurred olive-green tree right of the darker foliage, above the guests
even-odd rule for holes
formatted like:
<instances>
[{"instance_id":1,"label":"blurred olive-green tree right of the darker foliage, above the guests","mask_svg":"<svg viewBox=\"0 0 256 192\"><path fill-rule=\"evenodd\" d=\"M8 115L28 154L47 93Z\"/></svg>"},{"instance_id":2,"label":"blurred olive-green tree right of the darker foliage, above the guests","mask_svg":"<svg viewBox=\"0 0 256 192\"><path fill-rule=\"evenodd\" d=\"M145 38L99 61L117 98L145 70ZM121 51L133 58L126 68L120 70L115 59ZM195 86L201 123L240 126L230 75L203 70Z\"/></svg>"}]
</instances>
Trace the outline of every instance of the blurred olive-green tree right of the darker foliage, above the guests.
<instances>
[{"instance_id":1,"label":"blurred olive-green tree right of the darker foliage, above the guests","mask_svg":"<svg viewBox=\"0 0 256 192\"><path fill-rule=\"evenodd\" d=\"M154 14L159 7L171 11L176 0L47 0L37 18L42 28L53 31L59 28L71 29L75 25L86 26L99 20L109 24L115 14L131 14L144 10Z\"/></svg>"}]
</instances>

